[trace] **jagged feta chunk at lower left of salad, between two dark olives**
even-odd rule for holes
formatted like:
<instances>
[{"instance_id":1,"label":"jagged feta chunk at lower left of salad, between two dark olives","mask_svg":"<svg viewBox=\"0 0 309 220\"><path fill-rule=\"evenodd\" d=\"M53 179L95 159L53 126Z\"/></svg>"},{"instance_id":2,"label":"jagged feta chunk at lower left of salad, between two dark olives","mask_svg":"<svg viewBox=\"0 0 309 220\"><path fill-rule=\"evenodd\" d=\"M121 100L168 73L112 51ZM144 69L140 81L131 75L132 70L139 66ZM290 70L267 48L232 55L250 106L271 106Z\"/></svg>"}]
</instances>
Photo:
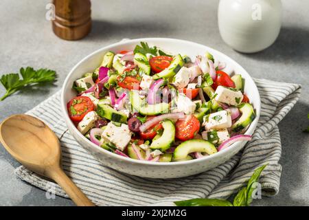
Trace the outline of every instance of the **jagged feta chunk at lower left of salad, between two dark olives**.
<instances>
[{"instance_id":1,"label":"jagged feta chunk at lower left of salad, between two dark olives","mask_svg":"<svg viewBox=\"0 0 309 220\"><path fill-rule=\"evenodd\" d=\"M115 144L119 151L124 151L124 148L126 148L126 145L128 145L128 142L131 140L131 135L132 133L128 129L127 124L117 126L113 122L109 122L102 133L102 138L104 138L106 142Z\"/></svg>"}]
</instances>

